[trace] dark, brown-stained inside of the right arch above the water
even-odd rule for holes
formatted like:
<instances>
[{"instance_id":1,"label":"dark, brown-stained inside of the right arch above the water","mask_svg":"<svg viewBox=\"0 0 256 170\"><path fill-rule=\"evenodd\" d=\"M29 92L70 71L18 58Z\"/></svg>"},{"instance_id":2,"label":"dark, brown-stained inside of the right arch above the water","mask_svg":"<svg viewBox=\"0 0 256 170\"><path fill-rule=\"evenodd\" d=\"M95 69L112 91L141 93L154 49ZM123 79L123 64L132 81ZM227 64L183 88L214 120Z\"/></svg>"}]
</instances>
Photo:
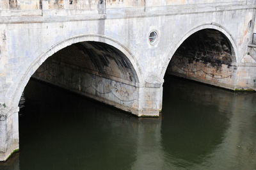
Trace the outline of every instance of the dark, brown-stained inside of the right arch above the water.
<instances>
[{"instance_id":1,"label":"dark, brown-stained inside of the right arch above the water","mask_svg":"<svg viewBox=\"0 0 256 170\"><path fill-rule=\"evenodd\" d=\"M236 52L224 33L206 28L190 35L175 51L166 75L234 89Z\"/></svg>"}]
</instances>

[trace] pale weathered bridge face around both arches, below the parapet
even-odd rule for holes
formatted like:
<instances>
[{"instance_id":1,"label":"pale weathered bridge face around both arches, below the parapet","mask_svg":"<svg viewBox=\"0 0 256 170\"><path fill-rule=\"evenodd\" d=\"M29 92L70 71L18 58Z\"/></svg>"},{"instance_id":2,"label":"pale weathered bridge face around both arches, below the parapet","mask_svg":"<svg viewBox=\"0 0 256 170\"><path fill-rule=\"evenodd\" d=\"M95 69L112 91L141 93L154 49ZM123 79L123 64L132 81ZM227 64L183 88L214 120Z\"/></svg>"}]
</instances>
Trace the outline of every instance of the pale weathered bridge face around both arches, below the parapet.
<instances>
[{"instance_id":1,"label":"pale weathered bridge face around both arches, below the parapet","mask_svg":"<svg viewBox=\"0 0 256 170\"><path fill-rule=\"evenodd\" d=\"M163 11L159 8L129 14L118 13L125 10L121 8L112 10L117 14L62 13L63 16L54 13L65 10L52 10L51 15L0 17L0 45L3 45L0 47L0 80L3 81L0 84L0 102L17 106L29 77L47 57L72 43L90 40L106 42L124 53L126 51L125 55L140 77L140 87L152 91L140 91L140 97L145 98L140 100L140 109L154 107L156 111L155 106L158 105L159 110L161 95L156 93L161 93L168 63L180 44L194 32L205 28L221 31L232 43L237 62L247 53L248 22L253 16L251 6L213 8L205 4L205 8L187 7L189 10L181 7L168 10L166 6ZM148 42L148 34L152 30L159 34L154 45Z\"/></svg>"}]
</instances>

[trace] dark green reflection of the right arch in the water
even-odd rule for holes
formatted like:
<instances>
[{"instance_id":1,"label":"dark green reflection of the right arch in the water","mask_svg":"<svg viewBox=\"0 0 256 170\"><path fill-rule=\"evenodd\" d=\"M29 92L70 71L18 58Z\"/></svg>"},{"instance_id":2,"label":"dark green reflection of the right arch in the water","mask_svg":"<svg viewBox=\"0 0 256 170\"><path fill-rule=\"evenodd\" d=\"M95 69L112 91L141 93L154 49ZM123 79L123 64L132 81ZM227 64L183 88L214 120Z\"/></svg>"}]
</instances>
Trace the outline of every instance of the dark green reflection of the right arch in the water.
<instances>
[{"instance_id":1,"label":"dark green reflection of the right arch in the water","mask_svg":"<svg viewBox=\"0 0 256 170\"><path fill-rule=\"evenodd\" d=\"M164 88L170 95L163 105L163 150L178 167L205 165L230 126L230 103L234 93L183 80ZM177 86L179 85L179 86ZM193 86L189 86L193 85ZM182 94L182 95L180 95Z\"/></svg>"}]
</instances>

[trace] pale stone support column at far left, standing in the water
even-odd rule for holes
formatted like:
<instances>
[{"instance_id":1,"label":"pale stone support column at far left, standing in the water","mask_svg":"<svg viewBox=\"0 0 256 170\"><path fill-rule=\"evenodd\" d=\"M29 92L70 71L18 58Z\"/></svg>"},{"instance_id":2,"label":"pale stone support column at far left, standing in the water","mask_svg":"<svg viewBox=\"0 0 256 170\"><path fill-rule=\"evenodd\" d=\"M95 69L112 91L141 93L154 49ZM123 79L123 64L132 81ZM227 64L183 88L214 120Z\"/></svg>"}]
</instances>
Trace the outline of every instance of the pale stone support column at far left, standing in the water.
<instances>
[{"instance_id":1,"label":"pale stone support column at far left, standing in the water","mask_svg":"<svg viewBox=\"0 0 256 170\"><path fill-rule=\"evenodd\" d=\"M19 150L19 107L0 109L0 161Z\"/></svg>"}]
</instances>

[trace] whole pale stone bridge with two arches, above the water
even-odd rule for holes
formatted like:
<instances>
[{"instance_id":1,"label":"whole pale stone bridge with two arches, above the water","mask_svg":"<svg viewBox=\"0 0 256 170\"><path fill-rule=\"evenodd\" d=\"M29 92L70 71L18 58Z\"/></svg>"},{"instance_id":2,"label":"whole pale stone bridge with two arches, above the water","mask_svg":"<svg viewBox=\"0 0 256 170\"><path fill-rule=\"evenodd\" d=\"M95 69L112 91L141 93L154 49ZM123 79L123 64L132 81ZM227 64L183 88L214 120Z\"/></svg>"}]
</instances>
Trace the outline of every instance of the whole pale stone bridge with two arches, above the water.
<instances>
[{"instance_id":1,"label":"whole pale stone bridge with two arches, above the water","mask_svg":"<svg viewBox=\"0 0 256 170\"><path fill-rule=\"evenodd\" d=\"M1 0L0 160L31 77L159 116L164 75L256 89L254 0Z\"/></svg>"}]
</instances>

